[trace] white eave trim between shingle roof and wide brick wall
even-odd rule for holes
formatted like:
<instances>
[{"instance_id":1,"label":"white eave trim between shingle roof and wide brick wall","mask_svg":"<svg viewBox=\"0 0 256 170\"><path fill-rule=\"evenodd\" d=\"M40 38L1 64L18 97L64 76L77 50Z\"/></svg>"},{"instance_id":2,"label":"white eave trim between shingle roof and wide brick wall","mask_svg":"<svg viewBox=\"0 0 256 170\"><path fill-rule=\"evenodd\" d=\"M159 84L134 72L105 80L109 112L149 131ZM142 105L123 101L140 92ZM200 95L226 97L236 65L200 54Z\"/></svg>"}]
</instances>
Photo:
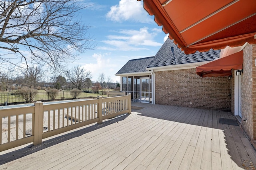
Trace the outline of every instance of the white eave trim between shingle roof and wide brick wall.
<instances>
[{"instance_id":1,"label":"white eave trim between shingle roof and wide brick wall","mask_svg":"<svg viewBox=\"0 0 256 170\"><path fill-rule=\"evenodd\" d=\"M175 64L175 65L168 65L168 66L159 66L159 67L151 67L146 68L146 70L154 70L156 71L168 71L168 70L184 70L184 69L190 69L190 68L196 68L198 66L201 66L203 64L210 63L212 61L202 61L197 63L185 63L185 64Z\"/></svg>"}]
</instances>

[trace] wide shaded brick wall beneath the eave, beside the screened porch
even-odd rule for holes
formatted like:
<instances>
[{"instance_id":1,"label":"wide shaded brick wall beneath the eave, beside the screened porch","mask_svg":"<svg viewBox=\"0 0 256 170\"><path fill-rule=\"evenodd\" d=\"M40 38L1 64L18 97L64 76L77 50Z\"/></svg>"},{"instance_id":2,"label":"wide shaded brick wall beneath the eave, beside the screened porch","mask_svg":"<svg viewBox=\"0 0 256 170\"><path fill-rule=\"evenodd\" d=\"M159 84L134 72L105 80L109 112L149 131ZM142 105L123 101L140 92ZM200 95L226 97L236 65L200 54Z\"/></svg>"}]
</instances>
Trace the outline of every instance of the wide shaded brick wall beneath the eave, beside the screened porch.
<instances>
[{"instance_id":1,"label":"wide shaded brick wall beneath the eave, beside the screened porch","mask_svg":"<svg viewBox=\"0 0 256 170\"><path fill-rule=\"evenodd\" d=\"M201 78L195 68L155 73L156 104L231 110L232 79Z\"/></svg>"}]
</instances>

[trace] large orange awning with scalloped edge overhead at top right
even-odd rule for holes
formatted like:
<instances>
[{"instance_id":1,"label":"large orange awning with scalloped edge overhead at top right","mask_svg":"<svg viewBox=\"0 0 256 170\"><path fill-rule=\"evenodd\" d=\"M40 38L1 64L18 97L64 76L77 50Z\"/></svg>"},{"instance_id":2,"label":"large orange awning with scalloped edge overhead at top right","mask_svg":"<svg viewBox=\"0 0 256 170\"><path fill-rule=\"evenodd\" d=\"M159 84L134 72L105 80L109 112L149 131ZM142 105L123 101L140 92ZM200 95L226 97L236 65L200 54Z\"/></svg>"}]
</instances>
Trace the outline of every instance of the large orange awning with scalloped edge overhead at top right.
<instances>
[{"instance_id":1,"label":"large orange awning with scalloped edge overhead at top right","mask_svg":"<svg viewBox=\"0 0 256 170\"><path fill-rule=\"evenodd\" d=\"M186 54L256 43L255 0L143 2L144 9Z\"/></svg>"}]
</instances>

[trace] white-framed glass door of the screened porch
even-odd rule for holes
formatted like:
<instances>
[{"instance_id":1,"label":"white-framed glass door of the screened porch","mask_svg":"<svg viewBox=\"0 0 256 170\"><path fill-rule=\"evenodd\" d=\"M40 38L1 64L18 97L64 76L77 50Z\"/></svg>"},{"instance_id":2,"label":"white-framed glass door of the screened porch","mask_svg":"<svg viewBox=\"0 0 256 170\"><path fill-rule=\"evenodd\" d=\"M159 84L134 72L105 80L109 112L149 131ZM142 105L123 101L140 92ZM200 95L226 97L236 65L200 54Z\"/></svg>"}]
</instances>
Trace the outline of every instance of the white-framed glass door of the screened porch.
<instances>
[{"instance_id":1,"label":"white-framed glass door of the screened porch","mask_svg":"<svg viewBox=\"0 0 256 170\"><path fill-rule=\"evenodd\" d=\"M140 102L149 103L150 102L150 83L149 78L140 79Z\"/></svg>"}]
</instances>

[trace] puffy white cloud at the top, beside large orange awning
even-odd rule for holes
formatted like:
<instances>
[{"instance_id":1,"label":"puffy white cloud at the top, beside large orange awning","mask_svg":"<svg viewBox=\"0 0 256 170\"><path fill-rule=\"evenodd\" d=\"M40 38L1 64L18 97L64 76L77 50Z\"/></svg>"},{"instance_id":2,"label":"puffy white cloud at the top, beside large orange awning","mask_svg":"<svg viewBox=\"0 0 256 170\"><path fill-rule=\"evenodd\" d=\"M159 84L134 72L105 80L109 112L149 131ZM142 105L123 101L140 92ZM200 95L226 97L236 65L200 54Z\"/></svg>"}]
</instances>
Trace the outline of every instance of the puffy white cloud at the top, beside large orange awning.
<instances>
[{"instance_id":1,"label":"puffy white cloud at the top, beside large orange awning","mask_svg":"<svg viewBox=\"0 0 256 170\"><path fill-rule=\"evenodd\" d=\"M120 0L118 5L112 6L106 17L112 21L135 21L140 23L153 23L146 10L143 1Z\"/></svg>"}]
</instances>

